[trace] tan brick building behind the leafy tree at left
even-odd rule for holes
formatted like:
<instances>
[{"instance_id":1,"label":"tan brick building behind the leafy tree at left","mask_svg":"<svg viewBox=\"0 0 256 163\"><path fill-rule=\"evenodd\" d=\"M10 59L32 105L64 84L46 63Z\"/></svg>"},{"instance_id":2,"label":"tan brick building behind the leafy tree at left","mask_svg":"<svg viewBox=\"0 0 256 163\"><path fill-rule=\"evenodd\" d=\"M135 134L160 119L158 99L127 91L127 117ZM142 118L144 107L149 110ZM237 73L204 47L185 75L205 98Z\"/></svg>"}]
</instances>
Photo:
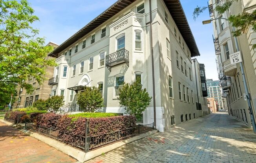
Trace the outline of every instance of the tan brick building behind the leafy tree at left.
<instances>
[{"instance_id":1,"label":"tan brick building behind the leafy tree at left","mask_svg":"<svg viewBox=\"0 0 256 163\"><path fill-rule=\"evenodd\" d=\"M46 46L53 46L54 48L58 47L56 43L49 42ZM48 56L49 58L49 56ZM38 99L46 100L49 98L51 94L51 86L48 85L49 78L53 76L54 67L47 67L46 68L46 75L44 76L46 79L44 82L39 85L36 79L31 78L27 80L27 83L33 85L35 87L35 91L31 94L27 94L26 90L23 88L17 87L18 95L16 96L17 101L13 103L13 108L25 108L31 106L33 102L37 101Z\"/></svg>"}]
</instances>

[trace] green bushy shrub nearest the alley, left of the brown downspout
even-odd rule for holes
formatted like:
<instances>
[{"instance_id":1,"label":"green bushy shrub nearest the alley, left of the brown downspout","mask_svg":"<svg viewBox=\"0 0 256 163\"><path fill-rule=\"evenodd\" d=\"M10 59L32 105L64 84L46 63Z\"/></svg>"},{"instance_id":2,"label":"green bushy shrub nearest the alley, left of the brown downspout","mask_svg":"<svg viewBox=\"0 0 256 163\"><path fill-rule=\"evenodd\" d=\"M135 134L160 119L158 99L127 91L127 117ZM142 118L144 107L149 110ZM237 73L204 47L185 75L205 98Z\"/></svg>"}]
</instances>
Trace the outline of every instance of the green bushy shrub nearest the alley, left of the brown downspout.
<instances>
[{"instance_id":1,"label":"green bushy shrub nearest the alley, left of the brown downspout","mask_svg":"<svg viewBox=\"0 0 256 163\"><path fill-rule=\"evenodd\" d=\"M138 82L132 84L124 83L123 89L120 89L119 103L124 107L125 113L139 118L140 114L148 107L152 97L149 96L146 89Z\"/></svg>"}]
</instances>

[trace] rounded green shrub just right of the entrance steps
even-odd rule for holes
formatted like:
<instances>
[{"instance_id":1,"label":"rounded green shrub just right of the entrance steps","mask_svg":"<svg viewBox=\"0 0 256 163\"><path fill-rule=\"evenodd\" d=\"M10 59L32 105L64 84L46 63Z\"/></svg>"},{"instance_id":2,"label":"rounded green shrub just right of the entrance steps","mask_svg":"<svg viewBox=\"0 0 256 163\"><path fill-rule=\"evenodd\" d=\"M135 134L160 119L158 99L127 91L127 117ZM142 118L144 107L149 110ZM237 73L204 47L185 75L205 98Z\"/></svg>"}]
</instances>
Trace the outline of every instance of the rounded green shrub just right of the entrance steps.
<instances>
[{"instance_id":1,"label":"rounded green shrub just right of the entrance steps","mask_svg":"<svg viewBox=\"0 0 256 163\"><path fill-rule=\"evenodd\" d=\"M77 103L86 112L95 112L103 107L103 98L99 88L85 87L85 90L78 94Z\"/></svg>"}]
</instances>

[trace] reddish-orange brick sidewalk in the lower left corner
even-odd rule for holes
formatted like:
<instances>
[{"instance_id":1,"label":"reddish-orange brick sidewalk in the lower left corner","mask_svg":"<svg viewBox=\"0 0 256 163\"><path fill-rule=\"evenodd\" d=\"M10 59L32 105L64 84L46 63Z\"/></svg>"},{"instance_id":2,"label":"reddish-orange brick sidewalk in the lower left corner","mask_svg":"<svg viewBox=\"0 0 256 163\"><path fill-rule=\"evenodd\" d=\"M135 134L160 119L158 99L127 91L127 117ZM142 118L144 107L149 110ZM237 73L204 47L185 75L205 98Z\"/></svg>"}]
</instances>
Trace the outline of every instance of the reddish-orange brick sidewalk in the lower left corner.
<instances>
[{"instance_id":1,"label":"reddish-orange brick sidewalk in the lower left corner","mask_svg":"<svg viewBox=\"0 0 256 163\"><path fill-rule=\"evenodd\" d=\"M75 163L76 159L0 122L0 163Z\"/></svg>"}]
</instances>

